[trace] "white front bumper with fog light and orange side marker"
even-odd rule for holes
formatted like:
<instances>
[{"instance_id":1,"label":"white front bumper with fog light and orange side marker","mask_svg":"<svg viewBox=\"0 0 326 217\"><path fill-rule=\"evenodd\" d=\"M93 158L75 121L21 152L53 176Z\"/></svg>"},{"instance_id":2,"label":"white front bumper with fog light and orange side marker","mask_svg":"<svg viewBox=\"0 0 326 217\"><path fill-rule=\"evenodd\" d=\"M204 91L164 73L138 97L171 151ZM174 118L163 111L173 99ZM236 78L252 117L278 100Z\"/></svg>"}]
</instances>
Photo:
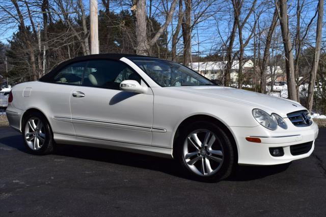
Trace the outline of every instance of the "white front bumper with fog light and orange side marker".
<instances>
[{"instance_id":1,"label":"white front bumper with fog light and orange side marker","mask_svg":"<svg viewBox=\"0 0 326 217\"><path fill-rule=\"evenodd\" d=\"M287 120L288 121L288 120ZM308 157L314 150L314 141L318 135L316 123L308 127L296 127L290 121L288 129L278 127L276 130L268 130L259 125L256 127L230 127L237 144L239 165L278 165L292 160ZM249 142L246 137L255 137L261 143ZM292 155L290 146L312 142L310 151L300 155ZM269 148L282 147L284 155L274 157Z\"/></svg>"}]
</instances>

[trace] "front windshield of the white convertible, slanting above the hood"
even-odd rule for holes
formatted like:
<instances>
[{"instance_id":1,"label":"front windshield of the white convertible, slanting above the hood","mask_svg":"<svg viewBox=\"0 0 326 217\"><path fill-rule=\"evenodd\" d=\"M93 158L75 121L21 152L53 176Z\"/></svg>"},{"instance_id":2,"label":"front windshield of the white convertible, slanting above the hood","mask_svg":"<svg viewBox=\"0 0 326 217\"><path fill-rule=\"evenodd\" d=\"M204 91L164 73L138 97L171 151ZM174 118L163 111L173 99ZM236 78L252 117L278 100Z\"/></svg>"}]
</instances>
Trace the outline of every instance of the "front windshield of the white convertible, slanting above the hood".
<instances>
[{"instance_id":1,"label":"front windshield of the white convertible, slanting above the hood","mask_svg":"<svg viewBox=\"0 0 326 217\"><path fill-rule=\"evenodd\" d=\"M215 85L204 76L178 63L144 57L129 57L161 87Z\"/></svg>"}]
</instances>

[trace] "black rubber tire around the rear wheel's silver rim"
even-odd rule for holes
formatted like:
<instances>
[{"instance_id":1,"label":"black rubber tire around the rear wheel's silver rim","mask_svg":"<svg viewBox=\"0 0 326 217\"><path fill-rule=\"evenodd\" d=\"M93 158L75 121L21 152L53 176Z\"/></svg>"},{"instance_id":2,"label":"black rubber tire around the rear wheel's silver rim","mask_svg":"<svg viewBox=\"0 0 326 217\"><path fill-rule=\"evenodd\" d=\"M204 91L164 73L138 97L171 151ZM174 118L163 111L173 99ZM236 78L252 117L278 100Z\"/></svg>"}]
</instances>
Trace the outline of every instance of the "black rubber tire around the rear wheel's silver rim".
<instances>
[{"instance_id":1,"label":"black rubber tire around the rear wheel's silver rim","mask_svg":"<svg viewBox=\"0 0 326 217\"><path fill-rule=\"evenodd\" d=\"M28 145L28 141L26 140L26 137L25 137L26 124L28 124L29 120L35 119L35 118L41 120L41 122L43 124L42 130L44 131L43 133L45 134L44 143L38 150L32 149ZM50 124L48 123L47 119L44 117L44 115L42 113L31 112L24 117L23 125L22 125L22 135L23 135L23 139L24 139L24 145L29 153L35 154L35 155L45 155L45 154L50 154L53 152L55 141L53 140L52 129L51 129Z\"/></svg>"}]
</instances>

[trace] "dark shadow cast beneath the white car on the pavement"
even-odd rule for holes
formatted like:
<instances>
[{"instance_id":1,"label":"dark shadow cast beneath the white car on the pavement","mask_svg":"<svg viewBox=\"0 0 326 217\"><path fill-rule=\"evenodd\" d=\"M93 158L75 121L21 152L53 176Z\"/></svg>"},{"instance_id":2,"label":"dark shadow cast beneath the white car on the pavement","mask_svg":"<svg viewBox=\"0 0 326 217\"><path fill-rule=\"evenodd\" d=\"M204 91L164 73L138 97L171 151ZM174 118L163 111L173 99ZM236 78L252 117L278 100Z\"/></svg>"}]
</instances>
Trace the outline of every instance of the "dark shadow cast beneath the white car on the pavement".
<instances>
[{"instance_id":1,"label":"dark shadow cast beneath the white car on the pavement","mask_svg":"<svg viewBox=\"0 0 326 217\"><path fill-rule=\"evenodd\" d=\"M14 142L13 142L14 141ZM28 153L23 144L21 135L13 135L0 139L0 144L15 148ZM129 167L143 168L147 170L160 171L169 175L189 179L177 162L173 159L135 154L124 151L102 149L88 146L57 145L55 155L75 157L89 160L108 162ZM276 166L237 166L234 173L227 179L228 181L249 181L260 179L285 171L290 164Z\"/></svg>"}]
</instances>

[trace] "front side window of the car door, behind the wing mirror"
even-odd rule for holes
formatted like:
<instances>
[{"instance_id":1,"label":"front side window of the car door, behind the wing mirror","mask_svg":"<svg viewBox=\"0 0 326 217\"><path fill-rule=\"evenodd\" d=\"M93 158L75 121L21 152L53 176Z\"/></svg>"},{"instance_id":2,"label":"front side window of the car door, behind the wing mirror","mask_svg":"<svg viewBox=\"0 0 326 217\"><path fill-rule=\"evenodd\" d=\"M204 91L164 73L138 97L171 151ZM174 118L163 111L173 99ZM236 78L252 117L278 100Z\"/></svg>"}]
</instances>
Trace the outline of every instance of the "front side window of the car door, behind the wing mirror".
<instances>
[{"instance_id":1,"label":"front side window of the car door, behind the wing mirror","mask_svg":"<svg viewBox=\"0 0 326 217\"><path fill-rule=\"evenodd\" d=\"M137 80L141 78L123 63L110 60L91 60L85 69L83 85L119 90L123 80Z\"/></svg>"}]
</instances>

